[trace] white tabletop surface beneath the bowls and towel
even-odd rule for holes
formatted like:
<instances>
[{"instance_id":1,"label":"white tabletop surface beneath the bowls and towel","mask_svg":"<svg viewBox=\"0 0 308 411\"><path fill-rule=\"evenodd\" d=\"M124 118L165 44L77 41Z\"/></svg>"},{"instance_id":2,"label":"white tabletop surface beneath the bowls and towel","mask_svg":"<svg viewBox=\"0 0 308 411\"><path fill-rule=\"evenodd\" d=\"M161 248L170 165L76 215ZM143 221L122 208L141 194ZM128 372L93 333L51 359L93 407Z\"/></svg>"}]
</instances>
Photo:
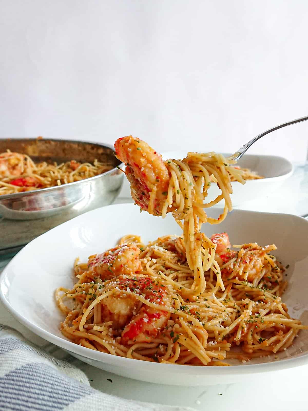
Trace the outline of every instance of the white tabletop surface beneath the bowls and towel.
<instances>
[{"instance_id":1,"label":"white tabletop surface beneath the bowls and towel","mask_svg":"<svg viewBox=\"0 0 308 411\"><path fill-rule=\"evenodd\" d=\"M131 202L127 183L120 193L117 203ZM248 201L238 208L268 212L282 212L301 216L308 215L308 163L296 164L294 174L278 192L268 193L266 199ZM2 259L3 260L3 259ZM0 271L8 261L0 261ZM19 324L0 303L0 323L10 325L32 342L44 347L47 342ZM50 347L50 344L48 344ZM57 347L49 348L58 358L69 359L88 376L91 386L104 393L118 395L127 399L153 402L166 405L190 406L196 410L213 407L237 411L260 409L307 410L308 366L263 374L262 380L256 378L246 383L223 386L177 387L152 384L102 371L81 361L68 357ZM260 378L260 377L259 377ZM111 379L113 382L108 381Z\"/></svg>"}]
</instances>

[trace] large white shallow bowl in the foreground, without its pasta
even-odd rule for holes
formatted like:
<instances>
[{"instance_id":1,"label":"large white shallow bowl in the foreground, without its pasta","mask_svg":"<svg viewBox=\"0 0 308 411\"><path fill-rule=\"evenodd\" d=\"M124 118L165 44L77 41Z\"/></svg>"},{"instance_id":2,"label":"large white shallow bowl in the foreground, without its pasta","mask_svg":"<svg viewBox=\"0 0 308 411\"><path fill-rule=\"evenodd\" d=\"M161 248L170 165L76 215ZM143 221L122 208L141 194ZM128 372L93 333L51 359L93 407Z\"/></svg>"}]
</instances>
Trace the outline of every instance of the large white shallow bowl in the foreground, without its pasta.
<instances>
[{"instance_id":1,"label":"large white shallow bowl in the foreground, without its pasta","mask_svg":"<svg viewBox=\"0 0 308 411\"><path fill-rule=\"evenodd\" d=\"M217 208L210 211L213 216L221 212ZM203 228L207 235L227 231L233 244L275 243L275 254L290 265L283 300L291 316L308 324L308 221L294 215L234 210L219 226L204 224ZM60 333L64 317L55 304L55 289L74 284L72 265L77 256L86 261L89 255L113 247L120 237L132 233L147 242L181 232L172 215L162 219L147 212L140 214L133 204L87 212L36 238L12 259L0 277L2 302L32 332L80 360L142 381L184 386L225 384L308 363L306 330L299 332L293 346L279 353L278 359L264 357L230 367L149 363L90 350L67 340Z\"/></svg>"}]
</instances>

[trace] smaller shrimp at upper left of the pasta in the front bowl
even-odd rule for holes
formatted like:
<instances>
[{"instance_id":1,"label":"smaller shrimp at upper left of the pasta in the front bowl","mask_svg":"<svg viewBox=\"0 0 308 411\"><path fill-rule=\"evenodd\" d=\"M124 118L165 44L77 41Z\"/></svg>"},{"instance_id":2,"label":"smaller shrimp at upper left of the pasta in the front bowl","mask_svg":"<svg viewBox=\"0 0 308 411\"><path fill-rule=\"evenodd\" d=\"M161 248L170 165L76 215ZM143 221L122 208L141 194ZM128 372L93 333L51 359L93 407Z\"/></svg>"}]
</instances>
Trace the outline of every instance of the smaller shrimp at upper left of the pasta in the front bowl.
<instances>
[{"instance_id":1,"label":"smaller shrimp at upper left of the pasta in the front bowl","mask_svg":"<svg viewBox=\"0 0 308 411\"><path fill-rule=\"evenodd\" d=\"M134 244L118 245L104 253L89 257L87 266L90 275L109 280L121 274L133 274L141 270L140 249Z\"/></svg>"}]
</instances>

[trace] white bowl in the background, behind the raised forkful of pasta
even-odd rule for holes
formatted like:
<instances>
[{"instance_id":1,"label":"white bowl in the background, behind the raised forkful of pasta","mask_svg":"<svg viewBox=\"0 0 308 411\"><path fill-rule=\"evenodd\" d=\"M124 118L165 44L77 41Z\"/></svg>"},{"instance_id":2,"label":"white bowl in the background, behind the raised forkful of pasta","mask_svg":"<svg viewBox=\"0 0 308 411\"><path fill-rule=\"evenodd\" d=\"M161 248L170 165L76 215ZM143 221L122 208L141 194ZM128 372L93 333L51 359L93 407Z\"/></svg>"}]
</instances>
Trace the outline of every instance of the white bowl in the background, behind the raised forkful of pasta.
<instances>
[{"instance_id":1,"label":"white bowl in the background, behind the raised forkful of pasta","mask_svg":"<svg viewBox=\"0 0 308 411\"><path fill-rule=\"evenodd\" d=\"M228 157L230 153L223 153L225 157ZM186 157L187 151L177 150L163 152L163 159L182 159ZM251 171L255 171L259 175L264 175L265 178L260 180L247 180L243 185L237 181L232 182L233 193L231 195L231 201L234 207L243 204L245 201L253 199L262 199L276 190L278 190L285 180L292 175L292 164L283 157L273 155L251 155L245 154L238 162L239 166ZM216 184L212 184L208 192L208 200L211 201L216 198L221 191ZM120 197L130 197L130 187L127 179L124 179L122 191ZM216 205L221 207L223 202Z\"/></svg>"}]
</instances>

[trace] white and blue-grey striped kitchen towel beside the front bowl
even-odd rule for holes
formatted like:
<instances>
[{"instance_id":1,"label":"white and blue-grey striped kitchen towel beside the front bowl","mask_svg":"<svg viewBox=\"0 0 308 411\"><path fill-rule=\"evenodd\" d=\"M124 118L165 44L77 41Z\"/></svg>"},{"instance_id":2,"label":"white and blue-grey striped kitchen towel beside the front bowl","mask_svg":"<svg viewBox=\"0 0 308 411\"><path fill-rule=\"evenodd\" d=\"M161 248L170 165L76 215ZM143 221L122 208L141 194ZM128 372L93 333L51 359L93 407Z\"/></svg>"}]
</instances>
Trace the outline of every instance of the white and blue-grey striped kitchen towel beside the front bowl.
<instances>
[{"instance_id":1,"label":"white and blue-grey striped kitchen towel beside the front bowl","mask_svg":"<svg viewBox=\"0 0 308 411\"><path fill-rule=\"evenodd\" d=\"M188 411L188 408L125 400L90 387L67 361L34 346L0 325L0 410L9 411Z\"/></svg>"}]
</instances>

